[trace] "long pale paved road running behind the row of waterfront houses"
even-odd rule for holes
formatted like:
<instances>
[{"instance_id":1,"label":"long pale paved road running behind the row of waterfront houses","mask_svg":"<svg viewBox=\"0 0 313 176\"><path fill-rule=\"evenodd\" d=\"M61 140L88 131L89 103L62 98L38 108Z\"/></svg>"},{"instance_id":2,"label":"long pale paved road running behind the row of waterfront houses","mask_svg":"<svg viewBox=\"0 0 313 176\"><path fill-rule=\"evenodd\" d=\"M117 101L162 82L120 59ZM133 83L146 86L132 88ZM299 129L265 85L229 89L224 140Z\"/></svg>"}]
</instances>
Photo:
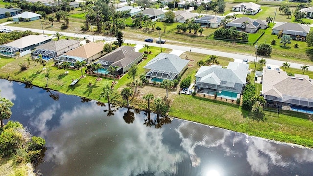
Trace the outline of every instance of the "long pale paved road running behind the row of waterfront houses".
<instances>
[{"instance_id":1,"label":"long pale paved road running behind the row of waterfront houses","mask_svg":"<svg viewBox=\"0 0 313 176\"><path fill-rule=\"evenodd\" d=\"M19 31L26 31L26 30L31 30L33 32L38 32L38 33L42 33L43 30L41 29L31 29L31 28L21 28L21 27L12 27L12 26L4 26L7 23L3 23L2 28L6 27L6 28L10 28L13 30L19 30ZM49 30L44 30L45 34L55 34L56 31L49 31ZM67 32L60 32L62 35L65 36L70 36L70 37L79 37L79 38L86 38L89 39L91 41L93 40L105 40L105 41L113 41L115 40L114 37L104 37L104 36L92 36L92 35L86 35L86 34L77 34L77 33L67 33ZM125 37L127 38L127 36ZM156 44L156 43L146 43L144 41L135 41L135 40L125 40L125 43L131 43L131 44L140 44L140 45L144 45L144 44L148 44L149 46L157 46L159 47L160 44ZM227 53L227 52L221 52L221 51L214 51L214 50L209 50L209 49L200 49L200 48L194 48L194 47L187 47L187 46L177 46L177 45L170 45L170 44L162 44L162 48L169 48L169 49L173 49L173 50L178 50L177 52L196 52L196 53L202 53L202 54L208 54L208 55L216 55L216 56L222 56L222 57L230 57L230 58L234 58L235 60L239 61L239 60L243 60L243 59L248 59L249 61L255 61L256 57L255 56L249 56L249 55L243 55L243 54L233 54L233 53ZM257 57L257 61L261 59L261 57ZM268 59L266 58L267 61L267 65L271 66L272 68L275 67L279 67L282 66L282 64L284 63L284 61L278 61L278 60L274 60L274 59ZM290 63L290 67L291 68L298 68L300 69L301 66L303 66L303 64L298 64L298 63ZM313 65L308 65L309 66L309 70L313 71Z\"/></svg>"}]
</instances>

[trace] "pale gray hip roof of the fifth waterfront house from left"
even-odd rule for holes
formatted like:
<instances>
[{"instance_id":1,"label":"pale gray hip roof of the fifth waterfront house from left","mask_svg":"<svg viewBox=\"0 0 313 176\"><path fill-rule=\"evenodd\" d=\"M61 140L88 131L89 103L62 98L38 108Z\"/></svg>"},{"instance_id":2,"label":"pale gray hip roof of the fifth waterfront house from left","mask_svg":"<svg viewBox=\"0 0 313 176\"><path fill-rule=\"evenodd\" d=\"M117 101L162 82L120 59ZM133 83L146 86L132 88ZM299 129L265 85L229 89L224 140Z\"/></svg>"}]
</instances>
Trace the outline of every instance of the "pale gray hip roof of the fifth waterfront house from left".
<instances>
[{"instance_id":1,"label":"pale gray hip roof of the fifth waterfront house from left","mask_svg":"<svg viewBox=\"0 0 313 176\"><path fill-rule=\"evenodd\" d=\"M149 61L144 68L169 71L179 74L188 62L189 60L181 59L179 56L174 54L160 53Z\"/></svg>"}]
</instances>

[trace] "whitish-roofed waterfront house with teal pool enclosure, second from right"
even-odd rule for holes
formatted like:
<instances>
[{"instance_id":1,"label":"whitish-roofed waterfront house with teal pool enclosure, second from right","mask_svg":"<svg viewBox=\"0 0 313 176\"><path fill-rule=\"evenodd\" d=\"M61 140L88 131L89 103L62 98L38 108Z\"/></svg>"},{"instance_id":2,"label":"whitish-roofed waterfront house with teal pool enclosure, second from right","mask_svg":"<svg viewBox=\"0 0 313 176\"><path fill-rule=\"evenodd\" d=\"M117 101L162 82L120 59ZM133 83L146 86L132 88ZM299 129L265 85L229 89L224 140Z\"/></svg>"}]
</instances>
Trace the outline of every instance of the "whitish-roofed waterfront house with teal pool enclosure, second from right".
<instances>
[{"instance_id":1,"label":"whitish-roofed waterfront house with teal pool enclosure, second from right","mask_svg":"<svg viewBox=\"0 0 313 176\"><path fill-rule=\"evenodd\" d=\"M235 62L230 62L226 69L219 65L201 66L195 75L195 90L210 96L237 100L246 85L248 69L248 64Z\"/></svg>"}]
</instances>

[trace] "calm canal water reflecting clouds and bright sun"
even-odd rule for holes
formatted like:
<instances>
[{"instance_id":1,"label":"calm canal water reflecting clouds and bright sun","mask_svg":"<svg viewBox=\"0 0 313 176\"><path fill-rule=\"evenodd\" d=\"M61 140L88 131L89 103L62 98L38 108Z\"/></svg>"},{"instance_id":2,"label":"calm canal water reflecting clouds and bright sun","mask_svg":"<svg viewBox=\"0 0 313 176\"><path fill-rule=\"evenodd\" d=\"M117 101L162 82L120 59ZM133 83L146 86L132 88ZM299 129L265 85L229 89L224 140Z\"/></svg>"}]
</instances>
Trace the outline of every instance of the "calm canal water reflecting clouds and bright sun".
<instances>
[{"instance_id":1,"label":"calm canal water reflecting clouds and bright sun","mask_svg":"<svg viewBox=\"0 0 313 176\"><path fill-rule=\"evenodd\" d=\"M108 116L96 101L6 80L0 89L11 120L45 138L44 176L313 175L311 149L124 108Z\"/></svg>"}]
</instances>

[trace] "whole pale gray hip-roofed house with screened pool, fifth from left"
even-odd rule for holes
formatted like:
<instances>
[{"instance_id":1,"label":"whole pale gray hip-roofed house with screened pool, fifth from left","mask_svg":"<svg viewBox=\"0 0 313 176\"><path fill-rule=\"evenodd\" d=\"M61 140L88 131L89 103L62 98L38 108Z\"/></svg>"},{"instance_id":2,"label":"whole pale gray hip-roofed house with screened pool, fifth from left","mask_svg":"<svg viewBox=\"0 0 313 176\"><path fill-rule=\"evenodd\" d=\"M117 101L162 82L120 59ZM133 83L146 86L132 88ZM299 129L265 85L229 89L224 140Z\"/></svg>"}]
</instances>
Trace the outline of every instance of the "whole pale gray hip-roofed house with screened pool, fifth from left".
<instances>
[{"instance_id":1,"label":"whole pale gray hip-roofed house with screened pool, fifth from left","mask_svg":"<svg viewBox=\"0 0 313 176\"><path fill-rule=\"evenodd\" d=\"M162 82L165 79L174 80L187 69L189 60L181 59L174 54L160 53L150 60L143 68L146 77L151 82Z\"/></svg>"}]
</instances>

